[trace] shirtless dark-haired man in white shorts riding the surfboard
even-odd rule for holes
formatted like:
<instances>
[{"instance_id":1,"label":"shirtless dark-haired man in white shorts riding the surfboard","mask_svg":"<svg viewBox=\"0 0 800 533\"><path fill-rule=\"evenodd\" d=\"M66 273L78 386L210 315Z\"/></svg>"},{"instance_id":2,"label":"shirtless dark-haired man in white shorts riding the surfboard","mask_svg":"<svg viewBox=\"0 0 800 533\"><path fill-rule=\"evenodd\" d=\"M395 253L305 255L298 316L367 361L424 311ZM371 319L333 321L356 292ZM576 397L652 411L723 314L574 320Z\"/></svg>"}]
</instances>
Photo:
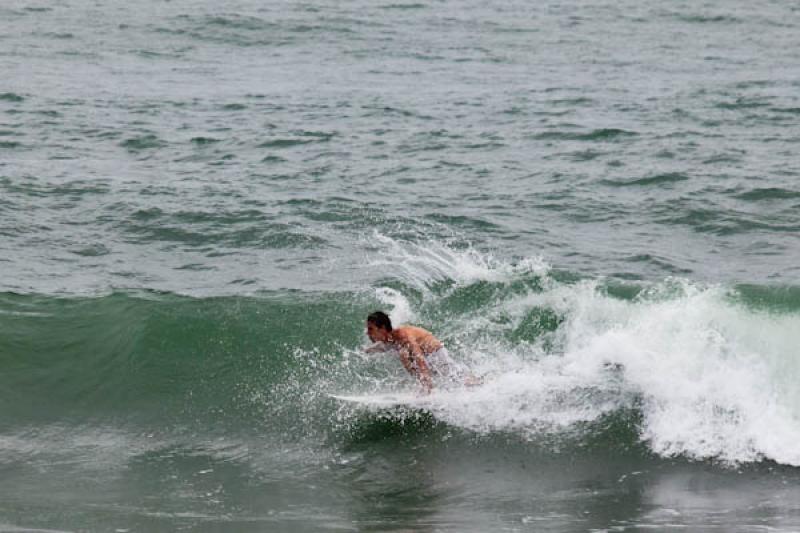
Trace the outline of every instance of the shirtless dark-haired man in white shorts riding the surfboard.
<instances>
[{"instance_id":1,"label":"shirtless dark-haired man in white shorts riding the surfboard","mask_svg":"<svg viewBox=\"0 0 800 533\"><path fill-rule=\"evenodd\" d=\"M415 326L392 328L386 313L375 311L367 317L367 336L374 342L368 353L396 349L400 362L416 377L426 392L433 389L434 377L454 377L455 361L430 331Z\"/></svg>"}]
</instances>

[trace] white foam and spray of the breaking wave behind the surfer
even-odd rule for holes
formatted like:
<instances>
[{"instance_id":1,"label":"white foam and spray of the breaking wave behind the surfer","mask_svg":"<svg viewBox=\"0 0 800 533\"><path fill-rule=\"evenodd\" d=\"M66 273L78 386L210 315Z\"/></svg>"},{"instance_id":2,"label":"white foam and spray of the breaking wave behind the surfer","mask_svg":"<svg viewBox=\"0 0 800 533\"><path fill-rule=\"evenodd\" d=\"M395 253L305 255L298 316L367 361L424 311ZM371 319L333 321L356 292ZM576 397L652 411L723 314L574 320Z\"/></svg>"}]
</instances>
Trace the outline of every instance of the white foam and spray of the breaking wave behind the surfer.
<instances>
[{"instance_id":1,"label":"white foam and spray of the breaking wave behind the surfer","mask_svg":"<svg viewBox=\"0 0 800 533\"><path fill-rule=\"evenodd\" d=\"M385 242L416 286L518 272L474 250ZM657 454L800 465L800 316L754 311L730 296L669 279L630 301L597 282L551 281L544 292L498 301L450 327L464 339L462 360L492 378L438 395L437 416L478 431L541 434L635 406L641 438ZM400 292L381 289L379 298L393 318L414 317ZM510 344L504 332L534 308L563 318L549 345Z\"/></svg>"}]
</instances>

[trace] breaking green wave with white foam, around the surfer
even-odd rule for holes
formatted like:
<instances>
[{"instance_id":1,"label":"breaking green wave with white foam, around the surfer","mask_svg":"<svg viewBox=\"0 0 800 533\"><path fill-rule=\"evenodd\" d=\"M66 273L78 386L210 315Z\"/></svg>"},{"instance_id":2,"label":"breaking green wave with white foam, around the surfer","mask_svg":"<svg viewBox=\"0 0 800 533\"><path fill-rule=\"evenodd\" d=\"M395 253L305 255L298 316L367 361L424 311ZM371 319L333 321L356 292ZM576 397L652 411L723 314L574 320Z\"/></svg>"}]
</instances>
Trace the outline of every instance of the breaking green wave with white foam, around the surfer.
<instances>
[{"instance_id":1,"label":"breaking green wave with white foam, around the surfer","mask_svg":"<svg viewBox=\"0 0 800 533\"><path fill-rule=\"evenodd\" d=\"M392 357L360 351L364 317L383 308L434 331L484 377L437 394L430 411L447 431L547 453L599 442L800 465L800 289L620 283L436 242L376 242L369 267L386 278L358 292L4 294L6 433L89 425L347 441L364 416L387 413L325 393L415 386Z\"/></svg>"}]
</instances>

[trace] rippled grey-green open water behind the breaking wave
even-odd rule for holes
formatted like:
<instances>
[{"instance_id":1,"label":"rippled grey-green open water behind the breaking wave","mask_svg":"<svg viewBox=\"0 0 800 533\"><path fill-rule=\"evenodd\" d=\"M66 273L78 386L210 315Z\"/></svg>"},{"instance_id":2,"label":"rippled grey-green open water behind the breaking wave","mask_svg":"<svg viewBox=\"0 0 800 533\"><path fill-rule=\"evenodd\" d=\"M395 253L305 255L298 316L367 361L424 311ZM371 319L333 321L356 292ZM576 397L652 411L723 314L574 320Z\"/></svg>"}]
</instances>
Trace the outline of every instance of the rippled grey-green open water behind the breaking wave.
<instances>
[{"instance_id":1,"label":"rippled grey-green open water behind the breaking wave","mask_svg":"<svg viewBox=\"0 0 800 533\"><path fill-rule=\"evenodd\" d=\"M798 16L6 4L6 286L344 288L318 264L360 277L372 229L589 275L792 283Z\"/></svg>"}]
</instances>

